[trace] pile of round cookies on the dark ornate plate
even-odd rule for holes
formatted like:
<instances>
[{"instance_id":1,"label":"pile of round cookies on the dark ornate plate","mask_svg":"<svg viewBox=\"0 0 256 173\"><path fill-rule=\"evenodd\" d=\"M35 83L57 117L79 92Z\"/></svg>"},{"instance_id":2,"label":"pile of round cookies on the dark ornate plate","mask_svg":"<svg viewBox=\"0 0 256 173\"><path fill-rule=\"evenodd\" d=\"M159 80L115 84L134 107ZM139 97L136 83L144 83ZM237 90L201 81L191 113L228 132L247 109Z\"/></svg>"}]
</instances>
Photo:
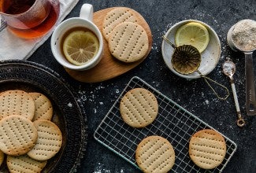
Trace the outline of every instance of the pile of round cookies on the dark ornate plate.
<instances>
[{"instance_id":1,"label":"pile of round cookies on the dark ornate plate","mask_svg":"<svg viewBox=\"0 0 256 173\"><path fill-rule=\"evenodd\" d=\"M62 134L51 122L53 107L40 93L6 90L0 94L0 162L10 172L40 172L61 149Z\"/></svg>"}]
</instances>

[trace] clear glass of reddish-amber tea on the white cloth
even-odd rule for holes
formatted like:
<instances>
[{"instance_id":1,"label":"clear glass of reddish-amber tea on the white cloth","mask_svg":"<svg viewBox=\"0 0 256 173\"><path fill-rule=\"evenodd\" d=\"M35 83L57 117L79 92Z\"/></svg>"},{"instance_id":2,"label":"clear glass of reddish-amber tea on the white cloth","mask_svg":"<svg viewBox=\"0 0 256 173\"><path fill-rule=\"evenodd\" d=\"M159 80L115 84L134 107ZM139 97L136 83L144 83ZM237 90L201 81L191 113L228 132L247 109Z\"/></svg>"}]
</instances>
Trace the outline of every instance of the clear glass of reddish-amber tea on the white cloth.
<instances>
[{"instance_id":1,"label":"clear glass of reddish-amber tea on the white cloth","mask_svg":"<svg viewBox=\"0 0 256 173\"><path fill-rule=\"evenodd\" d=\"M58 0L0 0L0 15L13 34L24 39L45 35L58 20Z\"/></svg>"}]
</instances>

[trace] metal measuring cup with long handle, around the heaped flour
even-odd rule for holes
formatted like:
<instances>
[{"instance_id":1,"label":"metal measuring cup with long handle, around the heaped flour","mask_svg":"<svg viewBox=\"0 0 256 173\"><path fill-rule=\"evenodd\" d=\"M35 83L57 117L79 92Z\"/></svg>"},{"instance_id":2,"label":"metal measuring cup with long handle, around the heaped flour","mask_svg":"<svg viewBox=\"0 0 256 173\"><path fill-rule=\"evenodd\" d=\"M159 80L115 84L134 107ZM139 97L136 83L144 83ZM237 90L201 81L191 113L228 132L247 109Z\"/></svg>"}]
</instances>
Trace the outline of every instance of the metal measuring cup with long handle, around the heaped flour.
<instances>
[{"instance_id":1,"label":"metal measuring cup with long handle, around the heaped flour","mask_svg":"<svg viewBox=\"0 0 256 173\"><path fill-rule=\"evenodd\" d=\"M250 20L241 20L250 21ZM237 24L239 24L239 22ZM252 20L252 22L255 22ZM246 107L247 107L247 115L248 116L256 116L256 97L255 97L255 87L254 87L254 67L253 67L253 58L252 54L254 50L242 50L238 46L236 46L234 40L232 39L232 31L236 27L236 24L229 29L227 35L227 41L230 48L234 51L241 51L245 56L245 75L246 75ZM255 34L255 33L254 33ZM247 39L246 36L243 39Z\"/></svg>"}]
</instances>

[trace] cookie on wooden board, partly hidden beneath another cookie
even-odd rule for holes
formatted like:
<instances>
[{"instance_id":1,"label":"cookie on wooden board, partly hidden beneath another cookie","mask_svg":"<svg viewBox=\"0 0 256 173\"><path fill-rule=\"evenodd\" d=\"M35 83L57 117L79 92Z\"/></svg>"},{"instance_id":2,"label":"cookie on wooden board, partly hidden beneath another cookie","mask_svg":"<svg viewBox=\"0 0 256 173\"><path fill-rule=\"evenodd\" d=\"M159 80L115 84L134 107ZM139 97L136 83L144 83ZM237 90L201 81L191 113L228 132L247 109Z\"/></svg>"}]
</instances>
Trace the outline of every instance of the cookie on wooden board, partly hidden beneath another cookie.
<instances>
[{"instance_id":1,"label":"cookie on wooden board, partly hidden beneath another cookie","mask_svg":"<svg viewBox=\"0 0 256 173\"><path fill-rule=\"evenodd\" d=\"M109 13L106 13L102 23L102 34L105 39L109 40L109 34L113 31L113 28L115 28L117 24L123 22L137 22L132 9L127 7L116 7L110 10Z\"/></svg>"}]
</instances>

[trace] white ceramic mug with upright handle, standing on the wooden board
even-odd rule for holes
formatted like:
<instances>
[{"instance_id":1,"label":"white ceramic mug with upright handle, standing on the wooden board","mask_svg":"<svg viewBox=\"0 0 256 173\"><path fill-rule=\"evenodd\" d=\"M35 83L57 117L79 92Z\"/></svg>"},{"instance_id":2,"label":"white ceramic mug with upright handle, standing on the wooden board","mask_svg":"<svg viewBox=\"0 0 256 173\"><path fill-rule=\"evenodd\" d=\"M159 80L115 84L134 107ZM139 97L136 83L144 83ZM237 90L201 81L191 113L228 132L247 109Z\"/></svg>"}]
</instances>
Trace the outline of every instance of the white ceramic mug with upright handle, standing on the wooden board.
<instances>
[{"instance_id":1,"label":"white ceramic mug with upright handle, standing on the wooden board","mask_svg":"<svg viewBox=\"0 0 256 173\"><path fill-rule=\"evenodd\" d=\"M82 36L76 35L79 33L81 33ZM72 42L71 44L80 46L78 48L71 47L71 50L76 51L75 53L72 53L75 56L71 57L73 59L78 59L79 57L81 59L81 56L84 54L86 56L86 53L83 53L83 51L89 52L85 42L88 42L89 44L90 42L97 42L97 52L94 52L94 56L85 61L83 64L74 64L73 61L71 61L70 58L68 58L65 54L65 42L67 38L72 37L72 35L76 36L74 36L74 39L72 39L72 42L75 42L75 44ZM83 38L84 36L88 36L88 38ZM81 37L83 38L82 40L77 39ZM91 37L95 38L96 40L92 39L91 41L88 41L91 39ZM50 46L52 53L59 64L71 70L83 71L95 67L95 65L101 60L103 54L102 38L101 31L99 31L98 27L93 23L93 6L91 6L91 4L83 4L80 9L80 17L72 17L64 20L54 29L50 40Z\"/></svg>"}]
</instances>

